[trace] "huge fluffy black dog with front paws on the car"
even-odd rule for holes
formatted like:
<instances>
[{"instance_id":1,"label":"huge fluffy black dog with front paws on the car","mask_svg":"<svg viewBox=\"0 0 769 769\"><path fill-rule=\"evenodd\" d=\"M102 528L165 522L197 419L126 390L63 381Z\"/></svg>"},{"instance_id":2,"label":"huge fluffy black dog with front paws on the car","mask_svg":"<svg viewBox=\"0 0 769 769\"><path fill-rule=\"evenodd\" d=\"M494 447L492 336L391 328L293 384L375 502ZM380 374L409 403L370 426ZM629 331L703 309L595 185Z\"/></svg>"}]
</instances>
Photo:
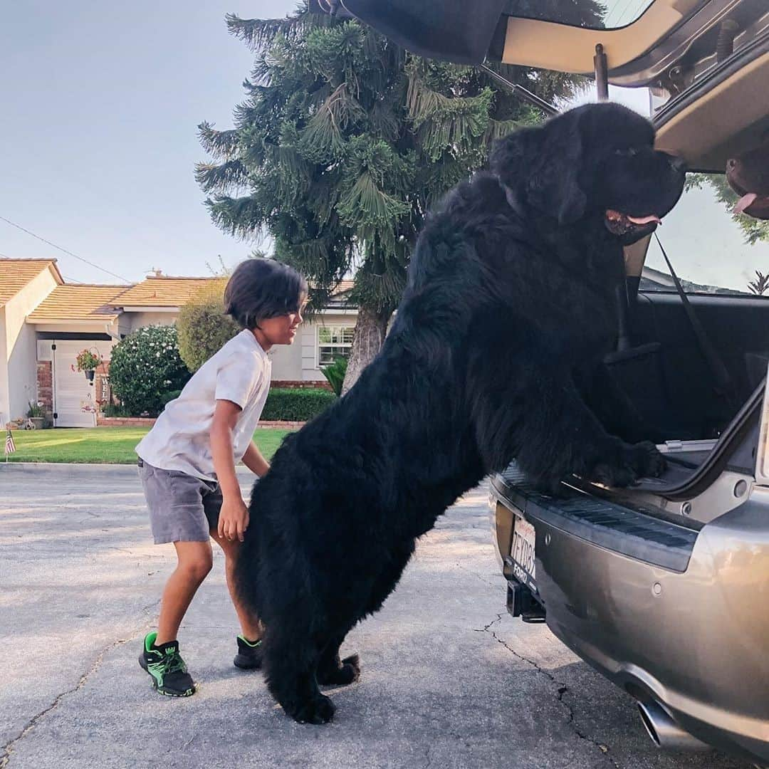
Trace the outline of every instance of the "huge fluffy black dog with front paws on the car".
<instances>
[{"instance_id":1,"label":"huge fluffy black dog with front paws on the car","mask_svg":"<svg viewBox=\"0 0 769 769\"><path fill-rule=\"evenodd\" d=\"M504 138L491 170L422 231L391 333L352 390L275 454L238 564L265 623L271 693L297 721L349 684L350 629L377 611L416 538L513 458L542 487L623 486L664 462L601 365L622 245L684 185L644 118L588 105Z\"/></svg>"}]
</instances>

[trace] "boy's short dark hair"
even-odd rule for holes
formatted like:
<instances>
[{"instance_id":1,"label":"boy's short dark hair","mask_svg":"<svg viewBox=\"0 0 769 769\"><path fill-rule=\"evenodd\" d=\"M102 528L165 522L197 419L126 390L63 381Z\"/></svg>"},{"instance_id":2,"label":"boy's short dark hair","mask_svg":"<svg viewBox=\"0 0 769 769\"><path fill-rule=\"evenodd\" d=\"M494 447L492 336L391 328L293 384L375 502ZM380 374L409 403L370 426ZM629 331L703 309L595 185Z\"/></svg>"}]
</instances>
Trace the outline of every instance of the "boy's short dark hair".
<instances>
[{"instance_id":1,"label":"boy's short dark hair","mask_svg":"<svg viewBox=\"0 0 769 769\"><path fill-rule=\"evenodd\" d=\"M266 318L298 311L307 296L307 281L272 259L247 259L235 268L225 288L225 312L253 330Z\"/></svg>"}]
</instances>

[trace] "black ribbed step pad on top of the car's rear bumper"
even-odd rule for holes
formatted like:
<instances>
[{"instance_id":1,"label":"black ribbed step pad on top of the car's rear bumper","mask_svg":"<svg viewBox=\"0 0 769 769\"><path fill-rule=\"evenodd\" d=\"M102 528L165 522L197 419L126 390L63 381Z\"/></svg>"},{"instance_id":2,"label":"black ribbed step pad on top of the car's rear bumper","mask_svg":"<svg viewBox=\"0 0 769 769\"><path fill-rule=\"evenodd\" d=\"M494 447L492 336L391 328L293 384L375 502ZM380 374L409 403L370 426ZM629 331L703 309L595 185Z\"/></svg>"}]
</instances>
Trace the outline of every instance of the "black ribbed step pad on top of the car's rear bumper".
<instances>
[{"instance_id":1,"label":"black ribbed step pad on top of the car's rear bumper","mask_svg":"<svg viewBox=\"0 0 769 769\"><path fill-rule=\"evenodd\" d=\"M537 491L516 464L491 479L503 504L532 523L541 521L574 537L670 571L684 572L697 531L662 521L638 509L563 485L562 497Z\"/></svg>"}]
</instances>

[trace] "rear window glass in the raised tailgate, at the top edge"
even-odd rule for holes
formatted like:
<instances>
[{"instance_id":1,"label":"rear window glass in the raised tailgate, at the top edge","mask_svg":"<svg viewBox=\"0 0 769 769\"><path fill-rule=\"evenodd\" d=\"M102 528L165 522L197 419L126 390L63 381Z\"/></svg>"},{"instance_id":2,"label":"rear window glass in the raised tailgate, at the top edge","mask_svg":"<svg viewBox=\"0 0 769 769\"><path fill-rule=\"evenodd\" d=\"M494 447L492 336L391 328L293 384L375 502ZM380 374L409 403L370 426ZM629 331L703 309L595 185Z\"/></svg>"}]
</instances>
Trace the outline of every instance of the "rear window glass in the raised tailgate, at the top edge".
<instances>
[{"instance_id":1,"label":"rear window glass in the raised tailgate, at the top edge","mask_svg":"<svg viewBox=\"0 0 769 769\"><path fill-rule=\"evenodd\" d=\"M509 0L504 12L574 27L616 29L641 18L654 0Z\"/></svg>"}]
</instances>

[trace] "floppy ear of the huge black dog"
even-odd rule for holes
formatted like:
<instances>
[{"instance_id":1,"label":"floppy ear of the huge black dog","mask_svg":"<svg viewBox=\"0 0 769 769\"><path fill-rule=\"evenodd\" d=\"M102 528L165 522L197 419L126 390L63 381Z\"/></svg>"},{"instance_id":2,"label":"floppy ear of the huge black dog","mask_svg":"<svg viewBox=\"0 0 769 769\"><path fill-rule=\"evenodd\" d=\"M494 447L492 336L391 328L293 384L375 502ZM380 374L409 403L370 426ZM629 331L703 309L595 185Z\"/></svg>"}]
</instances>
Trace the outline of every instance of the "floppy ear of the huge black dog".
<instances>
[{"instance_id":1,"label":"floppy ear of the huge black dog","mask_svg":"<svg viewBox=\"0 0 769 769\"><path fill-rule=\"evenodd\" d=\"M498 141L491 170L524 203L554 215L560 225L578 221L588 206L579 183L583 144L580 115L559 115L541 127L521 128Z\"/></svg>"}]
</instances>

